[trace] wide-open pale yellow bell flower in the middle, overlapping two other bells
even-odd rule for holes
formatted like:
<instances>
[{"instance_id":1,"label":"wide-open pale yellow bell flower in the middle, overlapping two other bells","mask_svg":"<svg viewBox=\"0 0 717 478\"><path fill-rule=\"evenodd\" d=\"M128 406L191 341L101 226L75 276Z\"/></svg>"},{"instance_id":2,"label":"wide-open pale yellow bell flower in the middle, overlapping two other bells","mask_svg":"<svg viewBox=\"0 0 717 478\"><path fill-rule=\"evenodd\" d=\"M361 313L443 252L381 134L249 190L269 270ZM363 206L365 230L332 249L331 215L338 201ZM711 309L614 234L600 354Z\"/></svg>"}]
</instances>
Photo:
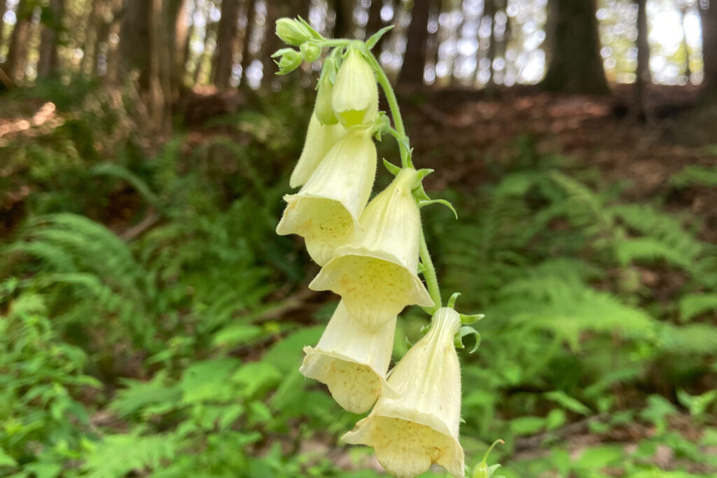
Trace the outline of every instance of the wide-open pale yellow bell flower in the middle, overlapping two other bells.
<instances>
[{"instance_id":1,"label":"wide-open pale yellow bell flower in the middle, overlapping two other bells","mask_svg":"<svg viewBox=\"0 0 717 478\"><path fill-rule=\"evenodd\" d=\"M309 284L341 295L351 317L369 328L381 327L407 305L434 305L417 276L421 217L411 191L418 181L414 169L402 169L366 207L364 229L338 247Z\"/></svg>"}]
</instances>

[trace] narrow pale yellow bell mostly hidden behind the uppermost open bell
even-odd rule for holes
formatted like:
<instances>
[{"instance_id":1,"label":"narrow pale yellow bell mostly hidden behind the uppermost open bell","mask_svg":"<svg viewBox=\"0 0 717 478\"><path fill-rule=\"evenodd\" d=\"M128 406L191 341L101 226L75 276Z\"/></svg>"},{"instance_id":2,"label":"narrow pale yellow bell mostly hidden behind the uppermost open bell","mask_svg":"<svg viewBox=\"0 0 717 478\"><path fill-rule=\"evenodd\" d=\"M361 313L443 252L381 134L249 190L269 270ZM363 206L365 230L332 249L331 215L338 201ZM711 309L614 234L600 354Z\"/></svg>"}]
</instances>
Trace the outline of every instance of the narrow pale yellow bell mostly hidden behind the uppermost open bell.
<instances>
[{"instance_id":1,"label":"narrow pale yellow bell mostly hidden behind the uppermost open bell","mask_svg":"<svg viewBox=\"0 0 717 478\"><path fill-rule=\"evenodd\" d=\"M323 125L315 114L311 115L304 148L299 161L291 172L289 186L298 188L309 180L311 175L331 148L346 135L346 128L339 124Z\"/></svg>"}]
</instances>

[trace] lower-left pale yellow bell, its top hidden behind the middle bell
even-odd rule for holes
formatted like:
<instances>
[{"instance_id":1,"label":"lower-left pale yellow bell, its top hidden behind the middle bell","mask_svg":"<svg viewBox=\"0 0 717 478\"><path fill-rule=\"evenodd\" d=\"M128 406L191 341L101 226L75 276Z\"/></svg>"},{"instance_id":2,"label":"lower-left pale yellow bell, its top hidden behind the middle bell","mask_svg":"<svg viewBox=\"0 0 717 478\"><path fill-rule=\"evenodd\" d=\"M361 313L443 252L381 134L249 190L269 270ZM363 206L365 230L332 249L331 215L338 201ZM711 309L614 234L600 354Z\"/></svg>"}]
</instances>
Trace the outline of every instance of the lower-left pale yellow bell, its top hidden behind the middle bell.
<instances>
[{"instance_id":1,"label":"lower-left pale yellow bell, its top hidden behind the middle bell","mask_svg":"<svg viewBox=\"0 0 717 478\"><path fill-rule=\"evenodd\" d=\"M343 408L363 414L379 396L398 397L386 383L395 331L396 317L382 328L369 330L339 302L318 345L304 348L299 371L326 383Z\"/></svg>"}]
</instances>

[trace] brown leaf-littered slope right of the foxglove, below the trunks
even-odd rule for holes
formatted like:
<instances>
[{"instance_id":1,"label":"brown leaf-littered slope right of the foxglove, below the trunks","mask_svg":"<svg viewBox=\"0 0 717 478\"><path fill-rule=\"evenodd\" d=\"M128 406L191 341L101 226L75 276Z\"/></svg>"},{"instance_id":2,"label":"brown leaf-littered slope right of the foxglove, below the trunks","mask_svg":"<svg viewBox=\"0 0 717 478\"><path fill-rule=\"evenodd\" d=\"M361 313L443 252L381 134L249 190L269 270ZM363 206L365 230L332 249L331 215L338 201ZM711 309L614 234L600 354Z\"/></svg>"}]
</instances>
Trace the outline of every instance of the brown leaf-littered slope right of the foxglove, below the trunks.
<instances>
[{"instance_id":1,"label":"brown leaf-littered slope right of the foxglove, below the trunks","mask_svg":"<svg viewBox=\"0 0 717 478\"><path fill-rule=\"evenodd\" d=\"M654 113L647 121L635 120L624 107L628 94L627 90L610 97L509 91L485 100L465 92L435 92L414 101L406 116L417 164L423 166L422 155L440 152L440 158L430 162L440 165L432 176L432 188L479 184L487 174L480 159L514 155L515 140L523 136L538 153L561 154L581 167L594 166L608 182L627 181L623 199L642 201L664 193L668 210L702 216L703 239L717 242L717 190L701 188L688 196L677 195L669 181L685 166L717 163L714 150L704 146L717 144L717 135L711 134L713 121L708 119L714 117L690 112L695 90L655 86L648 103ZM704 137L695 137L694 131Z\"/></svg>"}]
</instances>

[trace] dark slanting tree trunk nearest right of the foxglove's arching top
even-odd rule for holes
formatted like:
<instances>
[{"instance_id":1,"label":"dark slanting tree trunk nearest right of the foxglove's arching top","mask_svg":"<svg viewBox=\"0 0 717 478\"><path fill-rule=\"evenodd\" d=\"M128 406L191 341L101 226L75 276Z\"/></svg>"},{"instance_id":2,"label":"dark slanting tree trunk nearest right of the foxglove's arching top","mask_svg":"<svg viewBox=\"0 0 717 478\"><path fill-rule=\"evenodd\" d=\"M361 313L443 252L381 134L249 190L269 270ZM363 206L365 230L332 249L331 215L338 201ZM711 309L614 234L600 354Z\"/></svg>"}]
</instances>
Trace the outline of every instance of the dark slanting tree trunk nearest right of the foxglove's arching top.
<instances>
[{"instance_id":1,"label":"dark slanting tree trunk nearest right of the foxglove's arching top","mask_svg":"<svg viewBox=\"0 0 717 478\"><path fill-rule=\"evenodd\" d=\"M429 0L414 0L413 2L406 53L399 73L399 85L423 85L430 6Z\"/></svg>"}]
</instances>

